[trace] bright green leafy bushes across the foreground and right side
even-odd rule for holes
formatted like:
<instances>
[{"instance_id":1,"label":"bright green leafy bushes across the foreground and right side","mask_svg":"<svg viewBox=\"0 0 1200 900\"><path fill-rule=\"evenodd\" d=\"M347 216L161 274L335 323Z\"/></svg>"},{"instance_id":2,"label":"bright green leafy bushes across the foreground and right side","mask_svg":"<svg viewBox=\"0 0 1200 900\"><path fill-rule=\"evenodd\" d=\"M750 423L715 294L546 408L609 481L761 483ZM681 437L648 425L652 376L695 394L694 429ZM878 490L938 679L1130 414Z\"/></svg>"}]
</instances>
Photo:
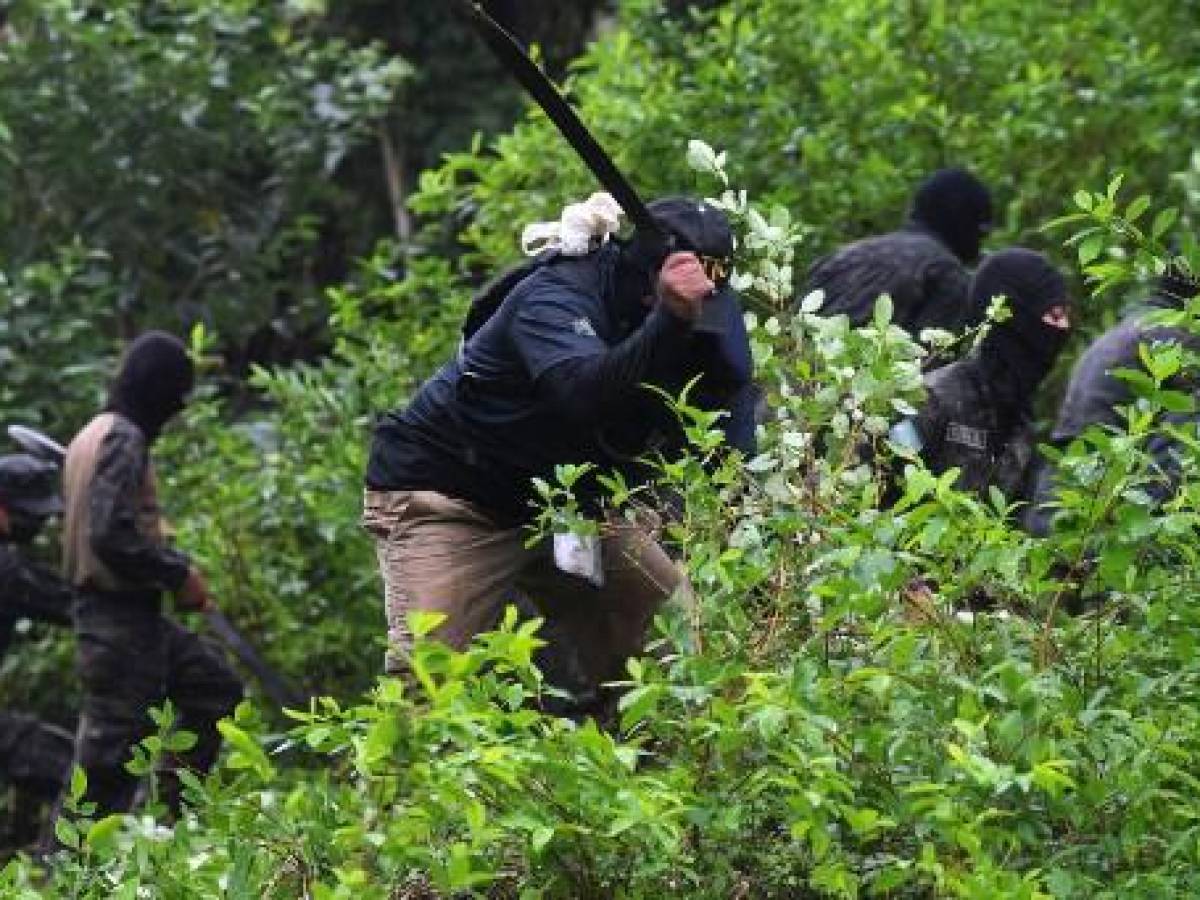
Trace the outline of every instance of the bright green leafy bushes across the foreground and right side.
<instances>
[{"instance_id":1,"label":"bright green leafy bushes across the foreground and right side","mask_svg":"<svg viewBox=\"0 0 1200 900\"><path fill-rule=\"evenodd\" d=\"M626 0L572 92L648 193L732 182L724 202L776 418L757 458L706 469L712 422L682 408L695 451L661 467L684 499L665 536L700 606L664 616L661 652L630 667L620 721L533 712L534 638L514 623L464 654L422 646L414 685L364 692L383 649L356 526L372 416L450 350L473 276L515 254L518 226L590 190L530 114L494 152L475 146L422 176L424 240L382 245L329 292L326 361L258 371L271 410L253 420L230 425L227 402L208 397L163 448L179 463L163 467L163 494L180 542L269 655L330 697L282 743L275 713L245 707L224 726L224 767L192 785L173 830L89 826L76 806L65 836L79 851L49 881L10 866L0 890L1194 895L1200 493L1187 482L1154 510L1141 490L1142 438L1162 410L1194 402L1171 386L1194 360L1147 360L1127 432L1072 450L1064 526L1034 540L998 498L919 467L878 511L880 473L856 448L870 442L890 464L882 436L918 400L922 350L886 305L860 331L782 313L817 252L889 227L916 178L966 161L998 187L997 245L1084 235L1072 259L1105 288L1085 314L1110 317L1124 280L1163 253L1170 222L1146 206L1181 203L1170 176L1189 170L1200 116L1194 16L1194 4L1124 0L762 0L680 25ZM706 148L686 152L697 137L728 151L728 174ZM1072 202L1118 169L1121 193ZM1194 182L1183 176L1184 205ZM1156 199L1124 199L1142 193ZM1038 230L1068 210L1082 218ZM448 228L460 262L422 251ZM68 262L86 286L88 253ZM66 270L42 277L62 283ZM209 340L194 335L202 350ZM1200 444L1181 439L1194 472Z\"/></svg>"}]
</instances>

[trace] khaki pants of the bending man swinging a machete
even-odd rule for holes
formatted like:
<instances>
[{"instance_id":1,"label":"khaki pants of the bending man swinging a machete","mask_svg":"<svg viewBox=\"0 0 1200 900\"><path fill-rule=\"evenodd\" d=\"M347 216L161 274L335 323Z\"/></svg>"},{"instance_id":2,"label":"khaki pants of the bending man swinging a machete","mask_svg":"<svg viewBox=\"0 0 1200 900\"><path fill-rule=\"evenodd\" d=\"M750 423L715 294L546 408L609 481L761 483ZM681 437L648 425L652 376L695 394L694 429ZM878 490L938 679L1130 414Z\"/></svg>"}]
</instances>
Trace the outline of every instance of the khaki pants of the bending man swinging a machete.
<instances>
[{"instance_id":1,"label":"khaki pants of the bending man swinging a machete","mask_svg":"<svg viewBox=\"0 0 1200 900\"><path fill-rule=\"evenodd\" d=\"M412 646L409 612L445 613L433 637L462 649L494 628L520 593L546 619L542 638L566 644L563 652L595 686L620 677L665 600L676 592L691 596L679 566L649 533L623 521L604 528L602 588L556 569L548 541L527 548L522 528L500 528L474 504L433 491L367 491L362 524L376 538L390 644L385 667L394 673Z\"/></svg>"}]
</instances>

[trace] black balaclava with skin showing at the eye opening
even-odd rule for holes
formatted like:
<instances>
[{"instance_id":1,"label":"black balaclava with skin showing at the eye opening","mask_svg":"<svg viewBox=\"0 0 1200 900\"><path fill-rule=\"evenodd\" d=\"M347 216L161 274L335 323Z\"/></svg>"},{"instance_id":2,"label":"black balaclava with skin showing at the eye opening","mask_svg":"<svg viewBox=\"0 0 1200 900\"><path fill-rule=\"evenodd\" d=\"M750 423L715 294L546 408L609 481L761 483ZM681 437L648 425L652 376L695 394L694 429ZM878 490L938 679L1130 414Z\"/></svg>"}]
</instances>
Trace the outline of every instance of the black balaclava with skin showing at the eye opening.
<instances>
[{"instance_id":1,"label":"black balaclava with skin showing at the eye opening","mask_svg":"<svg viewBox=\"0 0 1200 900\"><path fill-rule=\"evenodd\" d=\"M1067 343L1067 329L1042 320L1051 307L1068 305L1067 282L1040 253L1013 247L984 259L971 282L976 308L1001 295L1012 316L984 335L979 359L1001 414L1013 415L1028 407Z\"/></svg>"}]
</instances>

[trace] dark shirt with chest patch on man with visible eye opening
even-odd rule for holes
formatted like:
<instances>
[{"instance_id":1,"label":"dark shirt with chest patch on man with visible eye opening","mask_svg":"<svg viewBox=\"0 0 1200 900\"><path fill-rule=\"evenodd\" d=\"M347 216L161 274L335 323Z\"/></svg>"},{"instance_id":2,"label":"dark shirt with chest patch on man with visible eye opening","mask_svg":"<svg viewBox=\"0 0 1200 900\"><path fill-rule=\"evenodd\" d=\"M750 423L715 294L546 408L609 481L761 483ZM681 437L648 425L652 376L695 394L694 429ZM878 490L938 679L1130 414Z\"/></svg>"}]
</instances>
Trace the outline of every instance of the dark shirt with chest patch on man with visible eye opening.
<instances>
[{"instance_id":1,"label":"dark shirt with chest patch on man with visible eye opening","mask_svg":"<svg viewBox=\"0 0 1200 900\"><path fill-rule=\"evenodd\" d=\"M1028 410L1006 425L976 356L929 372L925 390L929 396L916 427L930 470L958 467L964 491L986 496L995 485L1009 500L1026 499L1034 460Z\"/></svg>"}]
</instances>

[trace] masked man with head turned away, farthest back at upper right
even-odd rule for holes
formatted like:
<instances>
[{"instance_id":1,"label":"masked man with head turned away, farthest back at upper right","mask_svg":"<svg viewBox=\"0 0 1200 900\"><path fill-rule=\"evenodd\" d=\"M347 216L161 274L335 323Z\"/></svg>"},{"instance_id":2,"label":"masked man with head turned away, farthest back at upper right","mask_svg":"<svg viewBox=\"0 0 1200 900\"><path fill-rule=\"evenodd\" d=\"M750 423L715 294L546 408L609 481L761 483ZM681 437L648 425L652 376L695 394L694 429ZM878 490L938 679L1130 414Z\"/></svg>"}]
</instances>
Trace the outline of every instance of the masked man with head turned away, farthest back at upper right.
<instances>
[{"instance_id":1,"label":"masked man with head turned away, farthest back at upper right","mask_svg":"<svg viewBox=\"0 0 1200 900\"><path fill-rule=\"evenodd\" d=\"M986 312L968 301L964 266L979 258L990 227L988 188L964 169L941 169L917 190L902 228L818 259L804 294L823 290L820 313L845 314L856 326L866 324L876 300L888 294L892 320L908 334L926 328L959 334Z\"/></svg>"}]
</instances>

